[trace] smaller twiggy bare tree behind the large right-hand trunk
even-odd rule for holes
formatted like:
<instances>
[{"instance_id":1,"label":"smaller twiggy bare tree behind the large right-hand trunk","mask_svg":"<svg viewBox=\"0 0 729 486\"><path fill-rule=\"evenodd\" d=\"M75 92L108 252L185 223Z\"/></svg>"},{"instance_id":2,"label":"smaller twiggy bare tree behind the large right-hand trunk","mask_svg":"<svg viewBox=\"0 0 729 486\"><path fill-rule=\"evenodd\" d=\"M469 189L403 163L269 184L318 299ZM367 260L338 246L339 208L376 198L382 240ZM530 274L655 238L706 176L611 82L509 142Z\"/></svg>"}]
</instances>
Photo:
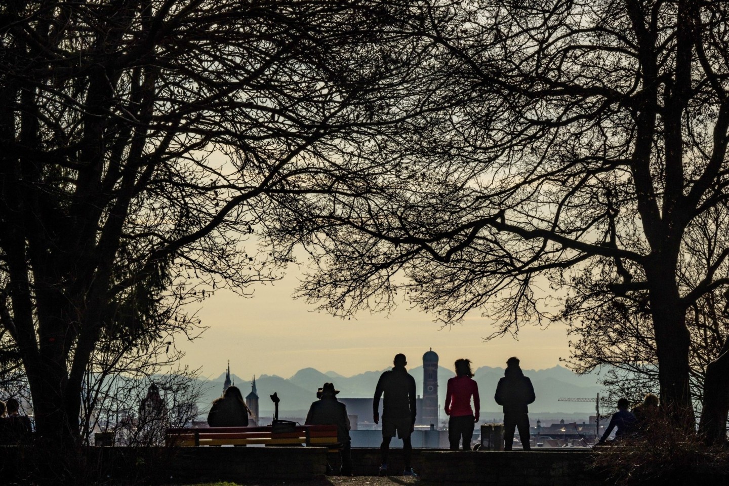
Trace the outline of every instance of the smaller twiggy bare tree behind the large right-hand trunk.
<instances>
[{"instance_id":1,"label":"smaller twiggy bare tree behind the large right-hand trunk","mask_svg":"<svg viewBox=\"0 0 729 486\"><path fill-rule=\"evenodd\" d=\"M687 233L685 244L690 251L681 266L677 280L684 287L695 287L703 278L706 267L714 258L715 248L725 248L727 235L726 213L707 211L700 218L700 224ZM559 316L569 322L571 354L566 360L577 372L588 372L595 367L607 366L601 381L616 396L627 396L640 401L644 393L658 393L658 367L656 366L656 345L650 314L650 299L646 291L628 291L616 296L610 291L614 281L609 275L595 279L586 271L585 278L573 278L570 283L570 297L566 300L563 313ZM727 350L729 337L729 314L727 296L718 290L710 291L696 299L686 310L686 326L691 337L689 353L690 391L693 404L703 410L705 399L716 400L712 391L721 391L722 386L706 386L706 375L712 363ZM705 388L709 396L704 396ZM726 395L725 395L726 397ZM727 397L729 398L729 397ZM729 400L709 405L719 415L709 423L717 423L725 435L722 417L729 413ZM701 421L701 432L705 433L707 420Z\"/></svg>"}]
</instances>

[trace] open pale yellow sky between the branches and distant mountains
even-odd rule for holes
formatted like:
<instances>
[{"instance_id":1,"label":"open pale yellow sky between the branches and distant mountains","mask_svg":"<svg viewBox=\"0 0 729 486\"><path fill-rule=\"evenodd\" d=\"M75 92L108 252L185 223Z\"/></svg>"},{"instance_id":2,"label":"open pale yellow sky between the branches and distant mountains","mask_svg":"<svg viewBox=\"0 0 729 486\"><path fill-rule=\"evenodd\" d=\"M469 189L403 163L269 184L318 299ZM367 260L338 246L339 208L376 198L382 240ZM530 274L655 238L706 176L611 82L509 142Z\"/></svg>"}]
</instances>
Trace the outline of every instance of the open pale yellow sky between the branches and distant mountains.
<instances>
[{"instance_id":1,"label":"open pale yellow sky between the branches and distant mountains","mask_svg":"<svg viewBox=\"0 0 729 486\"><path fill-rule=\"evenodd\" d=\"M561 325L524 326L518 341L483 342L492 329L477 314L451 329L440 329L431 316L406 305L389 316L361 313L347 321L292 299L296 285L288 273L274 285L255 286L249 299L228 291L206 299L198 316L209 329L194 342L180 343L187 352L183 364L202 367L203 377L217 377L230 359L230 371L249 380L263 374L288 378L306 367L351 376L391 366L396 353L405 353L416 367L429 348L445 367L456 358L469 358L475 368L504 367L507 358L518 356L524 369L543 369L568 356Z\"/></svg>"}]
</instances>

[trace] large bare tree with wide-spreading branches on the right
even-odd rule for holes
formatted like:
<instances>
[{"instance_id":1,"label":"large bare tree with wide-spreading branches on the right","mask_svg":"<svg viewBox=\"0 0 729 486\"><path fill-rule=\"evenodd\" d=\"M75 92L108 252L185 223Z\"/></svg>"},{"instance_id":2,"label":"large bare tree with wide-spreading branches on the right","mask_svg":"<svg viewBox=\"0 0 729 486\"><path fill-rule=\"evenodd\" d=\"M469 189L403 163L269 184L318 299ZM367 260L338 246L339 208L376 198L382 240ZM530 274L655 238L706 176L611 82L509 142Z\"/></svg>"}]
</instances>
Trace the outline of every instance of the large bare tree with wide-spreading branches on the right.
<instances>
[{"instance_id":1,"label":"large bare tree with wide-spreading branches on the right","mask_svg":"<svg viewBox=\"0 0 729 486\"><path fill-rule=\"evenodd\" d=\"M321 272L302 294L346 314L389 307L399 289L446 323L480 309L504 334L554 317L547 286L642 292L661 399L693 420L687 312L729 283L725 226L694 278L681 278L704 216L728 210L727 5L411 6L425 61L399 106L422 116L367 153L389 168L376 187L321 197L316 213L308 200L317 224L281 235L314 235ZM724 361L708 365L705 397Z\"/></svg>"}]
</instances>

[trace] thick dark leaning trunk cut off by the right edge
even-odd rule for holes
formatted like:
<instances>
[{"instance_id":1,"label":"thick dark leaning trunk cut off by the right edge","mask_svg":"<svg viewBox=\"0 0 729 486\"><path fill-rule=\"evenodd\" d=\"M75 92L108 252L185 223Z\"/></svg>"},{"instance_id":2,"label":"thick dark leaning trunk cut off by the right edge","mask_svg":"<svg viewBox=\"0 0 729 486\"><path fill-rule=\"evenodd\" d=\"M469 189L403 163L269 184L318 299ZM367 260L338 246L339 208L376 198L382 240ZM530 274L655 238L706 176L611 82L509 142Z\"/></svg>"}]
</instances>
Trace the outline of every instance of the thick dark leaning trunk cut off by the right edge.
<instances>
[{"instance_id":1,"label":"thick dark leaning trunk cut off by the right edge","mask_svg":"<svg viewBox=\"0 0 729 486\"><path fill-rule=\"evenodd\" d=\"M729 340L724 342L719 357L706 367L703 381L703 403L698 434L706 444L727 442L729 415Z\"/></svg>"}]
</instances>

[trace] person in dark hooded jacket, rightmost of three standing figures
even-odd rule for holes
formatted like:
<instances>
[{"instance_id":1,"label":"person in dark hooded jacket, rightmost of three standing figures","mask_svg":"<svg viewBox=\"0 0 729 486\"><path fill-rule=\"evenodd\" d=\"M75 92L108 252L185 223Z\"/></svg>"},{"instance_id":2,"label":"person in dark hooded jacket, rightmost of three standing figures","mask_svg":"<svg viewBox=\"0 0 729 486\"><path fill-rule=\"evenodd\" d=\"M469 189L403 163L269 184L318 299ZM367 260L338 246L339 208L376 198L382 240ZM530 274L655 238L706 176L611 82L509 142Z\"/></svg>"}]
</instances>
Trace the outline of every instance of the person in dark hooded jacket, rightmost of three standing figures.
<instances>
[{"instance_id":1,"label":"person in dark hooded jacket, rightmost of three standing figures","mask_svg":"<svg viewBox=\"0 0 729 486\"><path fill-rule=\"evenodd\" d=\"M496 385L496 403L504 408L504 450L512 450L514 429L518 428L524 450L531 450L529 444L529 407L534 402L534 386L519 367L519 358L506 362L504 377Z\"/></svg>"}]
</instances>

